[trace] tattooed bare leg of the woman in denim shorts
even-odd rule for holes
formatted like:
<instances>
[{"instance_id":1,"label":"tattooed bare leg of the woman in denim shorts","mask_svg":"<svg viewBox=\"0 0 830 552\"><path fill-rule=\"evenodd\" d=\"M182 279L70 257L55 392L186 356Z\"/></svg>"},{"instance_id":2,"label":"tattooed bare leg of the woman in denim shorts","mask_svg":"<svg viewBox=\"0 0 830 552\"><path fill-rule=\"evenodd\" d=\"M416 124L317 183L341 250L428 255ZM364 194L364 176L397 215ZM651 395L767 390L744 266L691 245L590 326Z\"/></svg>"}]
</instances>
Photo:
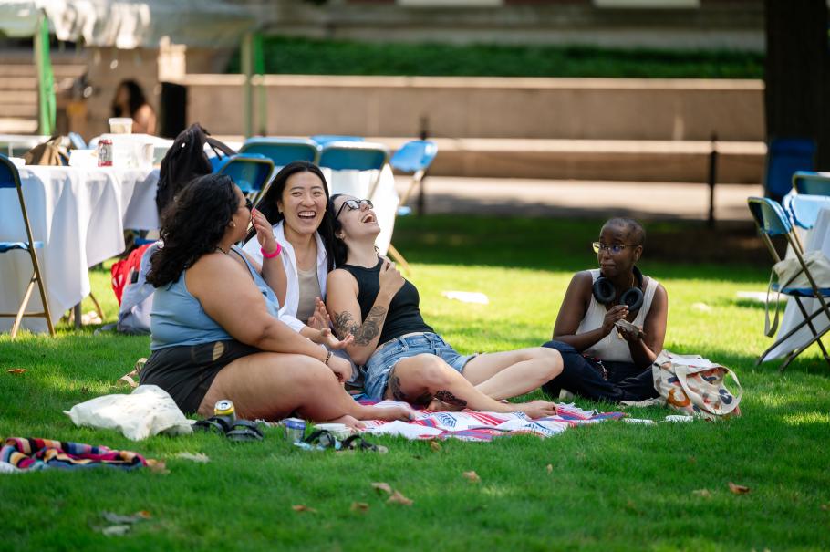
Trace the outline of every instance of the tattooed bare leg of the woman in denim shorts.
<instances>
[{"instance_id":1,"label":"tattooed bare leg of the woman in denim shorts","mask_svg":"<svg viewBox=\"0 0 830 552\"><path fill-rule=\"evenodd\" d=\"M495 401L435 355L422 354L400 360L389 376L386 397L418 402L429 396L458 408L492 412L524 411L532 418L549 416L556 410L553 403L546 401L524 404Z\"/></svg>"}]
</instances>

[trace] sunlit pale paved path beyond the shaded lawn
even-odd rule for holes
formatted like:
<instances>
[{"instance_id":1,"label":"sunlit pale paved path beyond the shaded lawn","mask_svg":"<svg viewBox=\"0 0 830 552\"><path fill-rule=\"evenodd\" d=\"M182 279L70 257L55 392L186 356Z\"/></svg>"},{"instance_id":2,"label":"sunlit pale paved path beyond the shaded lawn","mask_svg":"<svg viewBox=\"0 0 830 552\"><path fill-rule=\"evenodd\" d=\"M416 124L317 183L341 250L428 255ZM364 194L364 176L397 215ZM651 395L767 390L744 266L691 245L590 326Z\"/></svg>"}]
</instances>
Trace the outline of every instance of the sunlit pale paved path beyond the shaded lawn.
<instances>
[{"instance_id":1,"label":"sunlit pale paved path beyond the shaded lawn","mask_svg":"<svg viewBox=\"0 0 830 552\"><path fill-rule=\"evenodd\" d=\"M409 182L396 177L399 192ZM590 182L530 179L428 177L427 213L502 214L604 218L624 215L645 220L706 220L709 187L678 182ZM763 195L759 185L718 184L715 218L749 221L746 198ZM410 205L415 206L417 192Z\"/></svg>"}]
</instances>

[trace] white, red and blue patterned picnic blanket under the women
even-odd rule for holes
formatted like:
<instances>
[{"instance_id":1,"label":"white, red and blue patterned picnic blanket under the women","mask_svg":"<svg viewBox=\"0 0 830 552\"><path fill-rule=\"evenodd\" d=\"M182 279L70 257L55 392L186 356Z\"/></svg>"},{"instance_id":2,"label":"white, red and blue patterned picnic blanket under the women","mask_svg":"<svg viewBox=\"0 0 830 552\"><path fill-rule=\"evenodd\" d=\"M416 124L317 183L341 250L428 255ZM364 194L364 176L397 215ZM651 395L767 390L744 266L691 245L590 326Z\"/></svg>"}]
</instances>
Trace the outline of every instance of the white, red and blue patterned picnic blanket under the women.
<instances>
[{"instance_id":1,"label":"white, red and blue patterned picnic blanket under the women","mask_svg":"<svg viewBox=\"0 0 830 552\"><path fill-rule=\"evenodd\" d=\"M360 401L379 407L403 404L395 401ZM407 439L462 439L463 441L493 441L494 437L531 434L551 437L565 432L569 427L588 423L619 420L624 412L584 411L573 404L556 405L556 415L531 420L524 412L499 413L476 411L416 411L410 422L364 422L365 433L374 435L400 435Z\"/></svg>"}]
</instances>

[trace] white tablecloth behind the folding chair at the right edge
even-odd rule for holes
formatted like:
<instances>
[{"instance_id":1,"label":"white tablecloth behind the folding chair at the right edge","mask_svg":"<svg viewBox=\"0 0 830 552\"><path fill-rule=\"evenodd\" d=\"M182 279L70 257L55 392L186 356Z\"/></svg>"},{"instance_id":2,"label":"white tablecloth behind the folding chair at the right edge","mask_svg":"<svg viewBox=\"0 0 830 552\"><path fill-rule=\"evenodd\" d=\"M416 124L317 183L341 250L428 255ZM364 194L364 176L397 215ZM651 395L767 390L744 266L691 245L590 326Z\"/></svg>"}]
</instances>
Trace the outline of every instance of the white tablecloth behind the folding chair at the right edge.
<instances>
[{"instance_id":1,"label":"white tablecloth behind the folding chair at the right edge","mask_svg":"<svg viewBox=\"0 0 830 552\"><path fill-rule=\"evenodd\" d=\"M806 251L821 251L827 257L830 257L830 209L822 209L816 218L813 228L804 233L804 249ZM816 299L802 299L804 309L808 313L814 313L818 310L820 303ZM780 338L793 329L800 322L804 321L798 306L795 304L793 297L787 298L787 307L784 310L781 326L778 329L778 336ZM830 320L825 315L814 318L814 328L821 333L823 328L830 326ZM795 332L793 336L788 338L775 349L767 353L765 360L780 359L806 344L810 338L813 337L810 328L804 327Z\"/></svg>"}]
</instances>

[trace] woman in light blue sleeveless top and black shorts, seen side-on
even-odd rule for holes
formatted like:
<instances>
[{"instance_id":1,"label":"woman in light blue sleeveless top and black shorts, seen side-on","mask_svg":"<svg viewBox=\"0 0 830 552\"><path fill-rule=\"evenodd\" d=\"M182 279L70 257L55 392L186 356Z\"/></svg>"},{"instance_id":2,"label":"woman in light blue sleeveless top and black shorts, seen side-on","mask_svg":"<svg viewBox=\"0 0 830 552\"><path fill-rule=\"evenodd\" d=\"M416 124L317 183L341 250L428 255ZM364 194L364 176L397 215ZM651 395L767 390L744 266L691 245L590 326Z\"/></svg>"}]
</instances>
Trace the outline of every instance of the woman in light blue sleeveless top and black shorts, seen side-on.
<instances>
[{"instance_id":1,"label":"woman in light blue sleeveless top and black shorts, seen side-on","mask_svg":"<svg viewBox=\"0 0 830 552\"><path fill-rule=\"evenodd\" d=\"M163 246L150 259L156 287L152 354L142 384L170 393L184 412L213 413L233 401L242 418L275 420L293 411L314 420L358 425L356 419L406 420L404 408L361 406L338 383L350 365L285 326L265 282L283 270L276 256L255 265L235 244L252 221L251 203L233 181L210 174L188 184L163 214ZM267 221L254 221L265 251L276 245ZM265 279L264 279L265 276ZM344 347L329 329L316 342Z\"/></svg>"}]
</instances>

